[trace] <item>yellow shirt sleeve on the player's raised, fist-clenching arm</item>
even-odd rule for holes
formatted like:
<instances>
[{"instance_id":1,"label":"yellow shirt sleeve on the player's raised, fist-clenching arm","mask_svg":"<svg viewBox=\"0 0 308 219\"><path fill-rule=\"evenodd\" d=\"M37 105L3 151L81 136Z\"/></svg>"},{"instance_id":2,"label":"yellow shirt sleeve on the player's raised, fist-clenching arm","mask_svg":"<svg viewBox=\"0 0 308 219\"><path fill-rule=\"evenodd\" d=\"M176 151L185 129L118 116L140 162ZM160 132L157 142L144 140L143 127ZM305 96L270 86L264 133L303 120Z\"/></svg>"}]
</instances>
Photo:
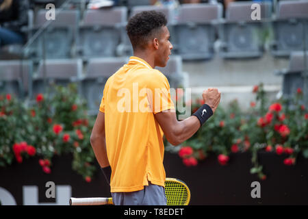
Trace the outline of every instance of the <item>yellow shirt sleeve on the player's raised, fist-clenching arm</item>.
<instances>
[{"instance_id":1,"label":"yellow shirt sleeve on the player's raised, fist-clenching arm","mask_svg":"<svg viewBox=\"0 0 308 219\"><path fill-rule=\"evenodd\" d=\"M152 112L157 114L165 110L174 110L168 79L162 73L155 73L149 80L148 99Z\"/></svg>"}]
</instances>

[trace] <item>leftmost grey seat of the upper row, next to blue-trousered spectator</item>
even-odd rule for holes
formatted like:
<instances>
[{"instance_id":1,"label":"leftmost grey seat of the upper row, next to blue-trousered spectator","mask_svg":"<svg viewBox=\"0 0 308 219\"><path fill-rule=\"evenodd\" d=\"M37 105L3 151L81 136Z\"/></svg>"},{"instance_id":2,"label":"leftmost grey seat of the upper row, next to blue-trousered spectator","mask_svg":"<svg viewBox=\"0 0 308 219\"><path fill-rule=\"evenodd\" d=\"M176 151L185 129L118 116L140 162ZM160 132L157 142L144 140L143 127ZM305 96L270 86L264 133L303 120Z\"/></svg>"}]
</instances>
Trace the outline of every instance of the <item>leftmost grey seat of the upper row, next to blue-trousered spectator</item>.
<instances>
[{"instance_id":1,"label":"leftmost grey seat of the upper row, next to blue-trousered spectator","mask_svg":"<svg viewBox=\"0 0 308 219\"><path fill-rule=\"evenodd\" d=\"M39 10L34 18L34 29L29 40L27 57L34 60L72 57L79 11L55 10L54 21L47 21L46 12L46 10Z\"/></svg>"}]
</instances>

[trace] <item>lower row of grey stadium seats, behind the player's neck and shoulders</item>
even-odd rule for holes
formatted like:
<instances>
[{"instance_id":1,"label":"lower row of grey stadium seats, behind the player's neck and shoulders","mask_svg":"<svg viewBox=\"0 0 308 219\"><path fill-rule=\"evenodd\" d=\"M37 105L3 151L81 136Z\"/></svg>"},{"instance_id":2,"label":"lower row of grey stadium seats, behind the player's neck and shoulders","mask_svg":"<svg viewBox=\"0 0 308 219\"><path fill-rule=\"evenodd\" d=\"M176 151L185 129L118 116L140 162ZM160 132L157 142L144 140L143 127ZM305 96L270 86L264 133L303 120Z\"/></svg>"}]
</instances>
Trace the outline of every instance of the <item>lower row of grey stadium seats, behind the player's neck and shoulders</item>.
<instances>
[{"instance_id":1,"label":"lower row of grey stadium seats, behind the player's neck and shoulders","mask_svg":"<svg viewBox=\"0 0 308 219\"><path fill-rule=\"evenodd\" d=\"M38 93L50 90L55 85L66 86L78 83L79 94L88 102L90 113L97 113L105 81L128 62L129 57L41 60L38 66L29 60L0 61L0 94L11 93L20 99L34 99ZM182 75L182 60L171 55L165 68L158 68L166 75L172 88L177 87Z\"/></svg>"}]
</instances>

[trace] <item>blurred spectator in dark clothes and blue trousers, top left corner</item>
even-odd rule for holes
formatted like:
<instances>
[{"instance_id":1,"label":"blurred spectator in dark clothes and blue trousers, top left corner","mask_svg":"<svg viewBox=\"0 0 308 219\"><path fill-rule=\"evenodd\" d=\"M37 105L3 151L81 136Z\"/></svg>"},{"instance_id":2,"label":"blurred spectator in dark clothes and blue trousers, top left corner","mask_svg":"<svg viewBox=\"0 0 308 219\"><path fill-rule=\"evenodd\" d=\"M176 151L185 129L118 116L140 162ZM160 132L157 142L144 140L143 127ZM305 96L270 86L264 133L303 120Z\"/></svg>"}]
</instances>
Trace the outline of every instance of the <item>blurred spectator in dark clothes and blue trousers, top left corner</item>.
<instances>
[{"instance_id":1,"label":"blurred spectator in dark clothes and blue trousers, top left corner","mask_svg":"<svg viewBox=\"0 0 308 219\"><path fill-rule=\"evenodd\" d=\"M0 46L23 44L22 27L28 23L28 0L0 0Z\"/></svg>"}]
</instances>

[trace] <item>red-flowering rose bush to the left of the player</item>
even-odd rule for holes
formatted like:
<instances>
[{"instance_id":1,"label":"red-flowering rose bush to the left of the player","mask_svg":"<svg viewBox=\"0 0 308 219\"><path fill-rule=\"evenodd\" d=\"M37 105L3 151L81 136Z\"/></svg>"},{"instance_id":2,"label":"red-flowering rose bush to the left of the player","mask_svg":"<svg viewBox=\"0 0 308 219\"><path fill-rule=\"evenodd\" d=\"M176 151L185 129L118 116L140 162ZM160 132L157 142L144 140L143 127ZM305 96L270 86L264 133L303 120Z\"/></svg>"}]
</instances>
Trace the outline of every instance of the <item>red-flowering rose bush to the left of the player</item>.
<instances>
[{"instance_id":1,"label":"red-flowering rose bush to the left of the player","mask_svg":"<svg viewBox=\"0 0 308 219\"><path fill-rule=\"evenodd\" d=\"M54 155L72 153L73 170L90 181L95 171L90 146L93 124L73 83L55 87L52 95L38 94L28 103L11 94L0 95L0 166L38 156L38 165L49 174Z\"/></svg>"}]
</instances>

